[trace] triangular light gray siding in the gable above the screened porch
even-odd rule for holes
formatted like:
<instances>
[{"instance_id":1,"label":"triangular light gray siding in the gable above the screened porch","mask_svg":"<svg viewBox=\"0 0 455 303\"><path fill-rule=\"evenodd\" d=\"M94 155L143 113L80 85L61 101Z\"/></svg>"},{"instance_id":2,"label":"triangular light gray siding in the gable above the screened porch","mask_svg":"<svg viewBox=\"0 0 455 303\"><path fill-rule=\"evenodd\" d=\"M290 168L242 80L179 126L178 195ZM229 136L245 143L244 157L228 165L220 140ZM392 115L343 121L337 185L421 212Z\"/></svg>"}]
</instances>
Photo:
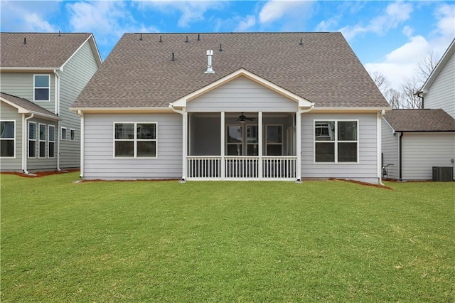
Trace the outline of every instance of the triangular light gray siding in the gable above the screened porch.
<instances>
[{"instance_id":1,"label":"triangular light gray siding in the gable above the screened porch","mask_svg":"<svg viewBox=\"0 0 455 303\"><path fill-rule=\"evenodd\" d=\"M298 103L240 76L187 102L188 112L296 112Z\"/></svg>"}]
</instances>

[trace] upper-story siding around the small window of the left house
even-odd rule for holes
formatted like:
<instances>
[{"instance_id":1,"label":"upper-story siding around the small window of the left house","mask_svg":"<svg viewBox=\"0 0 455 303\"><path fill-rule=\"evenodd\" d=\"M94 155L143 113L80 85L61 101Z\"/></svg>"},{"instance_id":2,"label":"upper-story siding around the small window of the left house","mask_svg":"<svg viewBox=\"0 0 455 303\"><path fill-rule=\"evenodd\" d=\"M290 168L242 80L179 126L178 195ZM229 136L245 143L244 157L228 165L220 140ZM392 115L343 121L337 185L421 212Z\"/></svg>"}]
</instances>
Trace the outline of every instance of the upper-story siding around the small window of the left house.
<instances>
[{"instance_id":1,"label":"upper-story siding around the small window of the left house","mask_svg":"<svg viewBox=\"0 0 455 303\"><path fill-rule=\"evenodd\" d=\"M53 73L1 72L1 92L33 102L33 75L50 75L50 101L37 101L36 104L55 113L55 75Z\"/></svg>"}]
</instances>

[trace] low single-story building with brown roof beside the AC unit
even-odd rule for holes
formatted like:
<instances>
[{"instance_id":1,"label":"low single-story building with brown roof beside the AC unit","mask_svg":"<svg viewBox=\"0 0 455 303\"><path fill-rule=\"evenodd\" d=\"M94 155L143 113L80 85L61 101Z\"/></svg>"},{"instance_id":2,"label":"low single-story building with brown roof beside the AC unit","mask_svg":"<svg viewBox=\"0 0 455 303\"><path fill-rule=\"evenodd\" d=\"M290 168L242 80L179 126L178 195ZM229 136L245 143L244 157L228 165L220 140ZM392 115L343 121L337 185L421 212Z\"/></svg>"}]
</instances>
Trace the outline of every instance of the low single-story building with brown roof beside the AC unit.
<instances>
[{"instance_id":1,"label":"low single-story building with brown roof beside the AC unit","mask_svg":"<svg viewBox=\"0 0 455 303\"><path fill-rule=\"evenodd\" d=\"M387 167L387 178L432 180L433 167L452 168L454 161L455 119L444 110L392 110L385 114L382 163L392 164Z\"/></svg>"}]
</instances>

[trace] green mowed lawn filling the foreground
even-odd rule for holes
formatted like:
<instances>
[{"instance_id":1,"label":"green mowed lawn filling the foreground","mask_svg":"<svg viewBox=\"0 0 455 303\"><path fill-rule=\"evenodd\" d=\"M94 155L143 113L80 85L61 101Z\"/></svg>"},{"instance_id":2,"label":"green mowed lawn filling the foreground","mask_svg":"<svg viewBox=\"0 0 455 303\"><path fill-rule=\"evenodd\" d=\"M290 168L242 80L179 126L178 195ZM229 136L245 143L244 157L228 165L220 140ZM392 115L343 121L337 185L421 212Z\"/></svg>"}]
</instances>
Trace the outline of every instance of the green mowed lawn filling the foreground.
<instances>
[{"instance_id":1,"label":"green mowed lawn filling the foreground","mask_svg":"<svg viewBox=\"0 0 455 303\"><path fill-rule=\"evenodd\" d=\"M455 185L1 175L2 302L454 302Z\"/></svg>"}]
</instances>

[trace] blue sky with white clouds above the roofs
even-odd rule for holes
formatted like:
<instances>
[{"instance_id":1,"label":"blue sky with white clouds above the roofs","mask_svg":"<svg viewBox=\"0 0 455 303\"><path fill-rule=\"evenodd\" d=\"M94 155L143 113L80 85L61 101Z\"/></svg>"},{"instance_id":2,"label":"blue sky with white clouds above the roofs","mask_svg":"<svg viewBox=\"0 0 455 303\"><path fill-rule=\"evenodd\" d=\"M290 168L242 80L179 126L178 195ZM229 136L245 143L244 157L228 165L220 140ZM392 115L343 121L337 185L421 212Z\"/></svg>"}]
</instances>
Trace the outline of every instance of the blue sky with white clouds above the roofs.
<instances>
[{"instance_id":1,"label":"blue sky with white clouds above the roofs","mask_svg":"<svg viewBox=\"0 0 455 303\"><path fill-rule=\"evenodd\" d=\"M4 1L4 32L89 32L104 60L123 33L339 31L399 88L455 37L452 1Z\"/></svg>"}]
</instances>

